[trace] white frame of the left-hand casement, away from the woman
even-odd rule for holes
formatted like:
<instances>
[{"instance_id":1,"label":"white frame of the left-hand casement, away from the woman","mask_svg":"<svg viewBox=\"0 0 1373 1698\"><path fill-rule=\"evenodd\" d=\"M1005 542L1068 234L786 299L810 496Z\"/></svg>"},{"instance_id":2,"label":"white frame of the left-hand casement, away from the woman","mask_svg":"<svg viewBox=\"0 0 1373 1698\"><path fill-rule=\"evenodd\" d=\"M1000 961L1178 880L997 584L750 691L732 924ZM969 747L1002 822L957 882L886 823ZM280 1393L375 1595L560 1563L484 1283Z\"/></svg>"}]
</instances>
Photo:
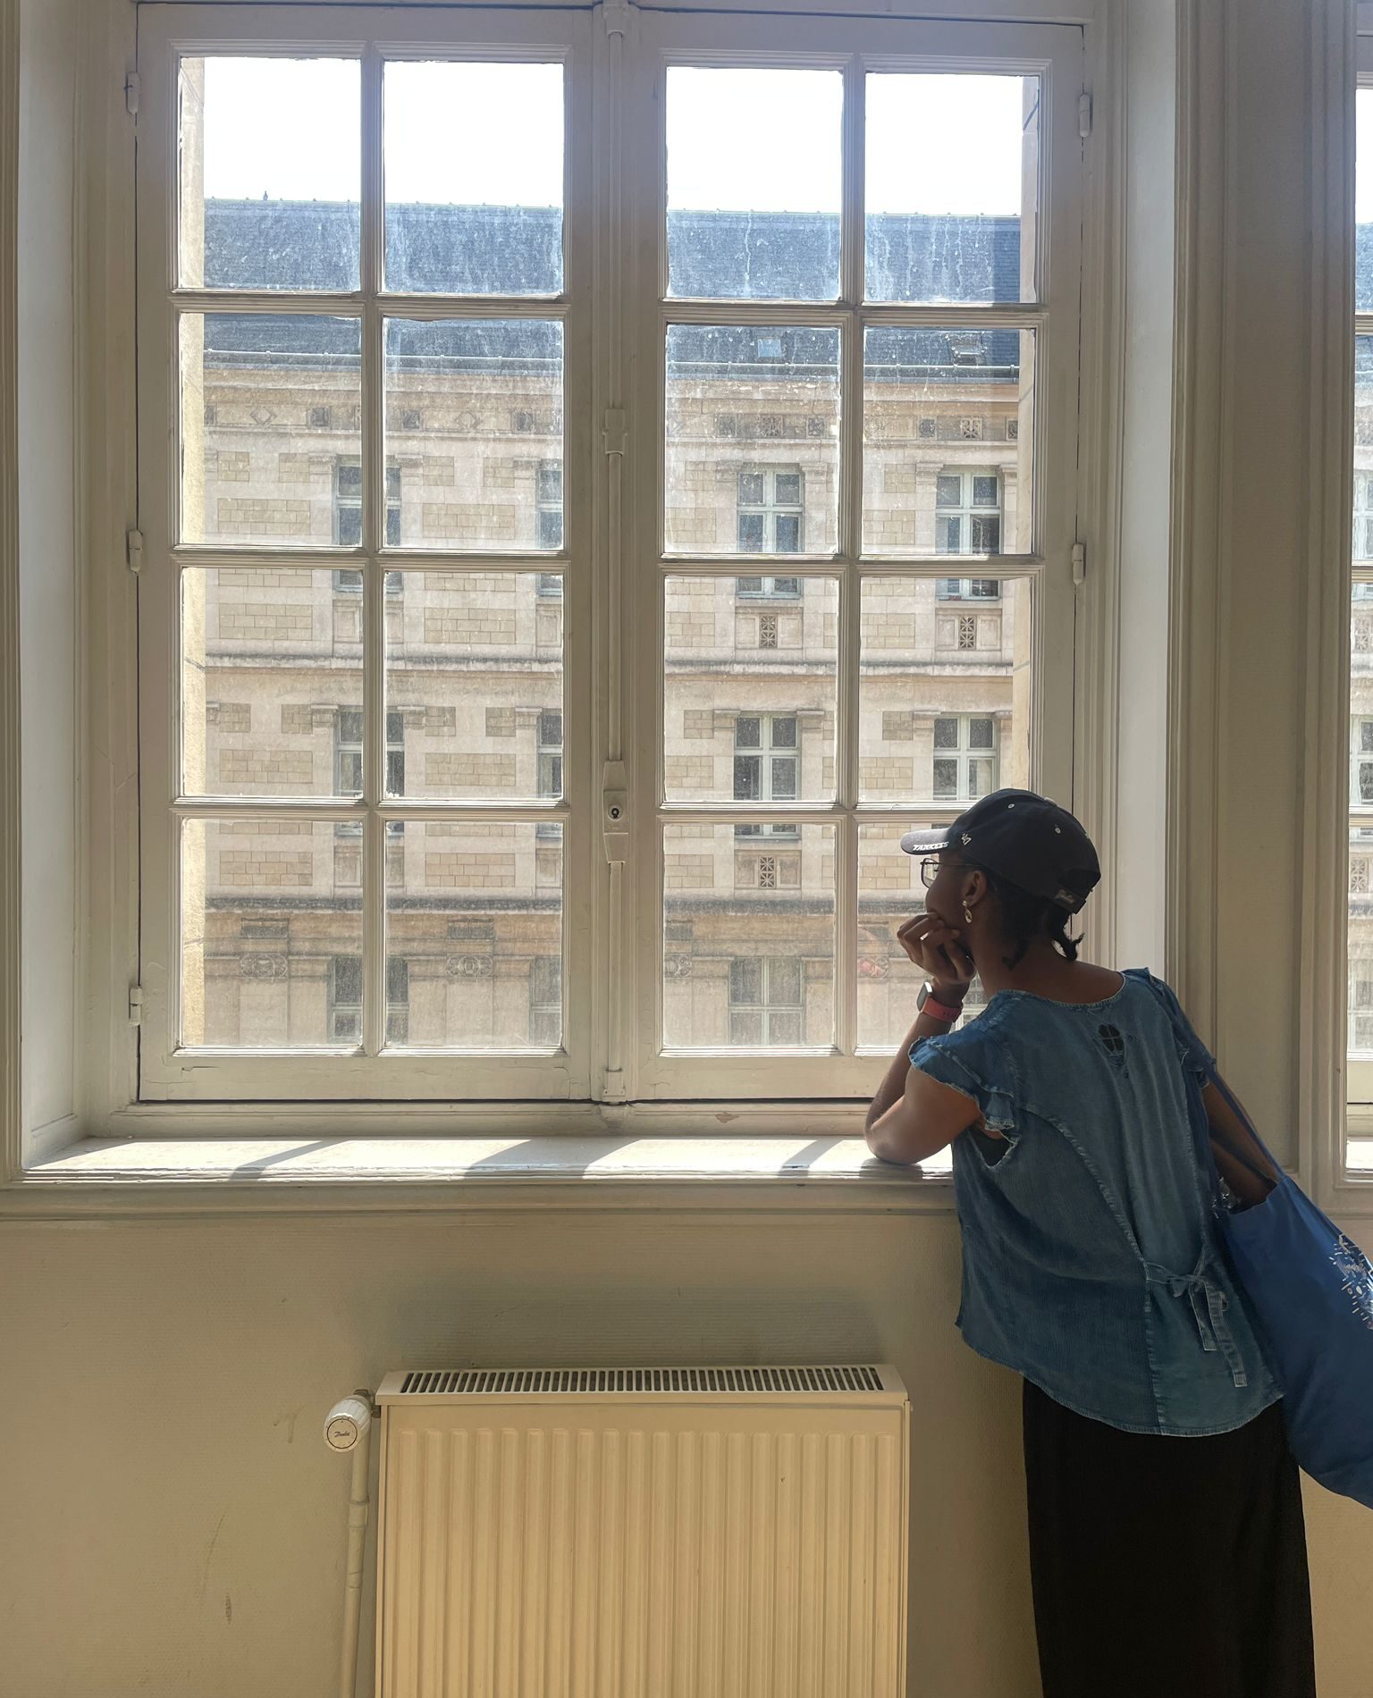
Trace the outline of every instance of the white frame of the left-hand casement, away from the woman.
<instances>
[{"instance_id":1,"label":"white frame of the left-hand casement, away from the woman","mask_svg":"<svg viewBox=\"0 0 1373 1698\"><path fill-rule=\"evenodd\" d=\"M578 983L590 973L591 941L586 925L573 924L585 912L590 883L591 834L585 807L590 773L591 678L591 229L573 209L591 204L591 20L574 10L525 12L455 8L425 10L328 8L328 7L223 7L156 5L139 12L139 163L138 238L143 267L138 285L139 346L139 528L144 537L144 569L139 584L139 640L144 655L141 679L141 844L143 924L141 978L143 1026L139 1031L139 1097L144 1102L231 1100L245 1107L255 1100L328 1102L370 1100L559 1100L591 1094L591 1017L588 998L573 998L564 1010L564 1043L552 1054L517 1051L404 1051L384 1053L387 1014L384 1007L386 886L398 869L394 841L406 818L433 815L425 801L386 796L384 742L369 737L374 751L364 773L364 798L355 805L301 801L292 812L336 827L357 824L364 834L364 900L367 924L362 954L365 971L364 1044L360 1053L340 1056L311 1051L185 1048L177 1039L178 983L178 871L177 827L182 818L253 817L253 803L185 800L177 795L178 737L175 679L178 672L178 569L190 564L262 564L265 559L311 564L335 571L364 571L364 644L370 683L364 691L367 727L381 727L386 711L379 661L386 644L384 594L394 569L406 574L442 569L459 572L510 572L547 569L557 562L564 589L564 773L568 795L547 803L455 805L445 812L462 818L556 822L562 827L564 852L564 975ZM438 39L435 39L438 37ZM364 136L364 241L362 290L330 295L309 292L308 311L360 316L364 346L381 346L379 319L389 318L539 318L559 319L564 335L564 481L568 509L564 548L503 552L500 555L440 555L394 550L376 514L384 511L382 374L376 363L364 387L362 464L364 491L370 496L365 523L377 535L364 535L362 547L343 550L253 550L223 547L177 547L175 514L178 491L175 457L168 452L167 419L178 418L173 323L178 309L189 311L272 311L279 295L184 290L177 284L173 231L177 200L177 80L180 53L301 53L314 48L328 54L360 58ZM530 59L564 65L564 294L559 297L391 297L379 294L381 282L381 75L382 61L396 58ZM370 151L369 151L370 149ZM370 211L376 209L376 211ZM287 292L279 292L285 295ZM291 297L301 309L306 292ZM374 341L367 329L376 328ZM364 374L367 362L364 357ZM369 565L369 562L372 562ZM389 598L386 598L389 599ZM573 776L574 774L574 776Z\"/></svg>"}]
</instances>

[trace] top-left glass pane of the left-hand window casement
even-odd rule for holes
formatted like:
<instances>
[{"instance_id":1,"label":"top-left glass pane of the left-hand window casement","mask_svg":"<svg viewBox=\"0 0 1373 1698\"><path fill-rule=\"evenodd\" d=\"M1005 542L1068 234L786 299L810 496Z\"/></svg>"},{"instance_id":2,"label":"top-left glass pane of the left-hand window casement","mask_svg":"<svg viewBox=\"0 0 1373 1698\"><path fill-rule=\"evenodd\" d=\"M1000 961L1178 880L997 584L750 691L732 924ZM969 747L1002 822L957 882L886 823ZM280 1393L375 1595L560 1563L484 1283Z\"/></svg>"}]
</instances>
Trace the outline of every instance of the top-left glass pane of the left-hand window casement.
<instances>
[{"instance_id":1,"label":"top-left glass pane of the left-hand window casement","mask_svg":"<svg viewBox=\"0 0 1373 1698\"><path fill-rule=\"evenodd\" d=\"M180 61L185 289L359 287L357 59Z\"/></svg>"}]
</instances>

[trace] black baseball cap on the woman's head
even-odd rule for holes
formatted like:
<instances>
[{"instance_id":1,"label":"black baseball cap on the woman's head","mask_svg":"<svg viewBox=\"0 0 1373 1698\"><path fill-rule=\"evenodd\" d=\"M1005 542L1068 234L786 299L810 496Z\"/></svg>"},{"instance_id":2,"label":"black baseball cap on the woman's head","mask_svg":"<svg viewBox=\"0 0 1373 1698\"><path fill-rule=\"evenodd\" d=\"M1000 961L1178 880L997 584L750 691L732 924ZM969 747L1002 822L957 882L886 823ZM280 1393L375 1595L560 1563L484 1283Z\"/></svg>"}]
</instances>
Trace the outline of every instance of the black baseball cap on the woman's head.
<instances>
[{"instance_id":1,"label":"black baseball cap on the woman's head","mask_svg":"<svg viewBox=\"0 0 1373 1698\"><path fill-rule=\"evenodd\" d=\"M1008 885L1057 902L1069 914L1077 914L1101 883L1091 837L1067 808L1033 790L994 790L952 825L907 832L901 847L906 854L957 849Z\"/></svg>"}]
</instances>

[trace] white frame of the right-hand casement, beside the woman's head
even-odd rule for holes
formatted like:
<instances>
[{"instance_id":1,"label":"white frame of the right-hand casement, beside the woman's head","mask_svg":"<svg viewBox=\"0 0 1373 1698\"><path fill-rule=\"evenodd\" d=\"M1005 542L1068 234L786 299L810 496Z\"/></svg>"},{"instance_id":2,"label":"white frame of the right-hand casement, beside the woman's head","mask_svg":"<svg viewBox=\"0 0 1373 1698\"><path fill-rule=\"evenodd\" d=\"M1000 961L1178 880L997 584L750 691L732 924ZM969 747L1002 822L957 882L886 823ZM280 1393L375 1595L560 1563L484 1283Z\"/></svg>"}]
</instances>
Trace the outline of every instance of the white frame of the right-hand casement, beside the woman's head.
<instances>
[{"instance_id":1,"label":"white frame of the right-hand casement, beside the woman's head","mask_svg":"<svg viewBox=\"0 0 1373 1698\"><path fill-rule=\"evenodd\" d=\"M647 65L637 87L627 126L639 132L661 124L666 102L666 68L670 65L812 65L841 68L846 78L845 146L856 156L863 134L862 90L867 68L967 70L986 59L997 70L1033 73L1043 78L1047 119L1042 127L1042 178L1038 199L1037 253L1040 294L1035 304L997 304L996 307L880 307L863 301L862 214L856 202L855 173L846 175L850 199L843 214L845 273L839 301L833 306L792 306L758 301L732 304L722 301L685 302L668 297L666 253L666 158L659 129L656 148L642 148L625 161L630 221L653 229L656 241L641 246L641 260L632 277L637 372L636 413L653 428L636 431L637 440L651 440L653 452L637 457L636 482L636 603L630 621L642 633L639 655L639 705L634 734L627 735L630 769L642 774L632 790L634 839L651 846L641 851L634 920L629 931L637 937L634 985L637 1020L627 1007L619 1010L619 1029L634 1032L634 1053L627 1054L629 1094L642 1100L683 1100L709 1092L712 1097L748 1099L828 1099L863 1097L872 1090L872 1061L858 1044L858 825L897 818L953 817L953 808L867 805L858 798L858 727L856 711L846 703L858 696L856 599L860 582L868 574L890 572L923 579L948 576L948 555L868 557L862 552L862 329L865 324L916 323L965 329L1008 326L1037 331L1037 365L1033 399L1033 441L1028 464L1035 472L1035 511L1030 545L1025 554L997 557L1003 579L1020 579L1031 610L1031 683L1030 683L1030 781L1048 795L1071 796L1074 784L1074 588L1072 542L1077 523L1077 362L1082 263L1082 141L1079 134L1077 95L1082 88L1082 39L1060 25L980 25L933 20L887 19L788 19L785 46L778 42L775 22L763 17L646 12L639 19L641 42ZM1048 163L1052 161L1052 163ZM1047 185L1052 183L1052 194ZM685 805L663 800L661 739L664 723L663 640L666 628L664 584L670 576L724 576L719 554L670 554L664 540L666 472L663 436L666 428L664 338L668 326L697 324L765 324L765 326L834 326L841 336L843 404L839 474L839 547L824 564L819 557L797 560L797 576L839 579L839 718L848 725L836 747L838 800L822 805L785 807L794 824L834 829L834 1043L822 1048L790 1051L785 1056L737 1056L727 1048L675 1049L661 1043L664 971L668 947L663 920L663 830L676 824L734 824L743 803ZM1050 375L1052 374L1052 375ZM1021 424L1020 438L1026 435ZM1050 445L1054 445L1050 452ZM1025 445L1023 445L1025 447ZM1031 499L1031 491L1021 491ZM1003 542L1006 538L1003 537ZM931 538L933 545L933 538ZM653 627L642 589L647 577L644 562L658 560ZM790 564L790 562L788 562ZM729 576L736 576L737 569ZM654 640L647 642L653 628ZM1052 633L1052 637L1047 637ZM1050 662L1052 655L1052 662ZM653 701L656 711L642 708ZM612 739L613 742L613 739ZM782 805L773 805L775 812ZM649 1015L649 1017L644 1017ZM709 1056L703 1068L702 1060ZM619 1058L617 1058L619 1060Z\"/></svg>"}]
</instances>

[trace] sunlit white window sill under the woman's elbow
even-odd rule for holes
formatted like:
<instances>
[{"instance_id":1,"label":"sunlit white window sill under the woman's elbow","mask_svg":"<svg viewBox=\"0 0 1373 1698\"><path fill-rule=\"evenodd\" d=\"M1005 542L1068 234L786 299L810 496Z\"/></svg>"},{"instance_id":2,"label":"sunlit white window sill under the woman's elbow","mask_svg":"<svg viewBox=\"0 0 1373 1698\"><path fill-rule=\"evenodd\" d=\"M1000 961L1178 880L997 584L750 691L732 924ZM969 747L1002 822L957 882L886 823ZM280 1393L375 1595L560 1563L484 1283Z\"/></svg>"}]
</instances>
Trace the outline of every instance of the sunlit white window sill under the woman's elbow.
<instances>
[{"instance_id":1,"label":"sunlit white window sill under the woman's elbow","mask_svg":"<svg viewBox=\"0 0 1373 1698\"><path fill-rule=\"evenodd\" d=\"M946 1182L860 1138L88 1138L0 1187L0 1212L923 1212L952 1207Z\"/></svg>"}]
</instances>

